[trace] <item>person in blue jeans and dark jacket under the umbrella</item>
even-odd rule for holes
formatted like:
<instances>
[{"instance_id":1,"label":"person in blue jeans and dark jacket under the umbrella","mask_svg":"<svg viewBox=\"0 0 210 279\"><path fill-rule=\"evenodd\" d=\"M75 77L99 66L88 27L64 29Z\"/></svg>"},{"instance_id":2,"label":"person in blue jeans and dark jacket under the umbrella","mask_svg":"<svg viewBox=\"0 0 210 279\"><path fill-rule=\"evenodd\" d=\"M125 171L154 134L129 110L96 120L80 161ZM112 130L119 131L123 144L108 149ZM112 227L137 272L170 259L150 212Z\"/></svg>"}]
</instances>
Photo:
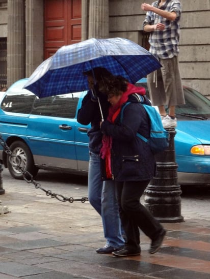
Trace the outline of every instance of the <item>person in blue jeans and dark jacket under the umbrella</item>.
<instances>
[{"instance_id":1,"label":"person in blue jeans and dark jacket under the umbrella","mask_svg":"<svg viewBox=\"0 0 210 279\"><path fill-rule=\"evenodd\" d=\"M89 136L89 170L88 170L88 199L90 204L101 215L106 245L96 250L99 254L110 254L124 245L121 232L119 208L115 196L115 187L112 180L102 181L100 173L100 148L102 134L100 131L101 112L104 119L107 118L110 104L107 96L98 90L98 82L103 77L110 78L112 74L102 67L84 73L87 76L90 90L82 101L82 107L78 111L77 121L83 125L91 123Z\"/></svg>"}]
</instances>

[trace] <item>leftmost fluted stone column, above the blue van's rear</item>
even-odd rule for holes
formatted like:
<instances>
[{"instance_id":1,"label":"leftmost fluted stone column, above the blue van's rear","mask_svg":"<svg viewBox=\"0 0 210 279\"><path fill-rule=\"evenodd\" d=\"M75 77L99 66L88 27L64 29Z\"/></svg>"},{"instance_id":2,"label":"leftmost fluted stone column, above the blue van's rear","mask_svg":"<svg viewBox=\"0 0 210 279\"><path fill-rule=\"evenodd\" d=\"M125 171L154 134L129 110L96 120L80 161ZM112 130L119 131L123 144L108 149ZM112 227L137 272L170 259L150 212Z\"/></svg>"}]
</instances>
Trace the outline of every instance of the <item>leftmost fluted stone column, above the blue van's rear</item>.
<instances>
[{"instance_id":1,"label":"leftmost fluted stone column, above the blue van's rear","mask_svg":"<svg viewBox=\"0 0 210 279\"><path fill-rule=\"evenodd\" d=\"M25 77L25 1L8 0L7 85Z\"/></svg>"}]
</instances>

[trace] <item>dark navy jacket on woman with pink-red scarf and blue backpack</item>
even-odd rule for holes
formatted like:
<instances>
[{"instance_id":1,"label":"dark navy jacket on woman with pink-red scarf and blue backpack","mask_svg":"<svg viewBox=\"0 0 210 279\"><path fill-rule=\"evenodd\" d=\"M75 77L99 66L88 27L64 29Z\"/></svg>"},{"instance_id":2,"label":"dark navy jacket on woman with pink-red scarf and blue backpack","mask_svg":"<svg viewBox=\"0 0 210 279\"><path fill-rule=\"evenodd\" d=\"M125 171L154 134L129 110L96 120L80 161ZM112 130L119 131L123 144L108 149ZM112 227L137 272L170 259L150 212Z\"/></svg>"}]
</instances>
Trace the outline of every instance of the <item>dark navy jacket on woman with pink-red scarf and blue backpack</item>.
<instances>
[{"instance_id":1,"label":"dark navy jacket on woman with pink-red scarf and blue backpack","mask_svg":"<svg viewBox=\"0 0 210 279\"><path fill-rule=\"evenodd\" d=\"M112 137L112 172L116 181L139 181L151 179L155 174L155 159L147 143L136 136L137 132L145 138L150 134L149 117L132 95L131 102L123 110L114 124L104 121L102 133Z\"/></svg>"}]
</instances>

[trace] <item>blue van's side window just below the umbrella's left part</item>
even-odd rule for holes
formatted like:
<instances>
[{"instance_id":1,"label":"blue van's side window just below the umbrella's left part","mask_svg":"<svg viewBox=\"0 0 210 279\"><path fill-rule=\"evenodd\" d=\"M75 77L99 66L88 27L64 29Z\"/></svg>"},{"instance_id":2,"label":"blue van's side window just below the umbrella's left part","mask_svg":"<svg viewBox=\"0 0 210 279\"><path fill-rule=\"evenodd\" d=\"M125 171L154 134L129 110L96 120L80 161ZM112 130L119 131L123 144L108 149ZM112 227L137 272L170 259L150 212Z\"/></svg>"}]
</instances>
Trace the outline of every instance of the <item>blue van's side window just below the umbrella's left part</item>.
<instances>
[{"instance_id":1,"label":"blue van's side window just below the umbrella's left part","mask_svg":"<svg viewBox=\"0 0 210 279\"><path fill-rule=\"evenodd\" d=\"M74 93L41 99L36 98L32 108L32 114L74 118L78 100L79 98Z\"/></svg>"}]
</instances>

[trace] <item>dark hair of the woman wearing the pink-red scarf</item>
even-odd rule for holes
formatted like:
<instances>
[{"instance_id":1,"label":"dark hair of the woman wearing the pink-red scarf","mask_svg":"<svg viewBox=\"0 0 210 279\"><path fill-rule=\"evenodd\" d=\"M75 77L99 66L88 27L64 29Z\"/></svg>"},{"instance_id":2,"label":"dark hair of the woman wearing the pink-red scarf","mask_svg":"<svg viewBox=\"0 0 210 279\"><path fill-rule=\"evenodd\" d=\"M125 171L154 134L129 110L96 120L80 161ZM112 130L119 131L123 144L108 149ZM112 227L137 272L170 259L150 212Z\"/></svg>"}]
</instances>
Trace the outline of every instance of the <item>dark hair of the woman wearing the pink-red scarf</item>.
<instances>
[{"instance_id":1,"label":"dark hair of the woman wearing the pink-red scarf","mask_svg":"<svg viewBox=\"0 0 210 279\"><path fill-rule=\"evenodd\" d=\"M109 95L111 92L119 96L127 90L128 80L122 76L103 77L99 83L99 91Z\"/></svg>"}]
</instances>

